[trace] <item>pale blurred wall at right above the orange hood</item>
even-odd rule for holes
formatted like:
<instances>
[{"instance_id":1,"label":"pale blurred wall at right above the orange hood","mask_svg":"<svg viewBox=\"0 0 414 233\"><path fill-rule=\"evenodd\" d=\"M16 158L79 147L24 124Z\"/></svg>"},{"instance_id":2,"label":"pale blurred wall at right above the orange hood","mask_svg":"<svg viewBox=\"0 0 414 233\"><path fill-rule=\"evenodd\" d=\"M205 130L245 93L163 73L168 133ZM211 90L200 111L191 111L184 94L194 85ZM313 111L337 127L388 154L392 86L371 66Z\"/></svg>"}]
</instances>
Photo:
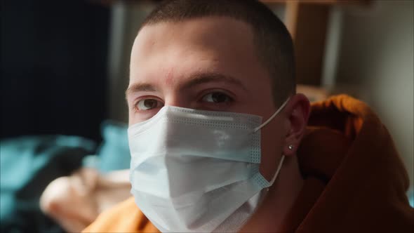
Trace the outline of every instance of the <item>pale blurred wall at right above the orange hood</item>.
<instances>
[{"instance_id":1,"label":"pale blurred wall at right above the orange hood","mask_svg":"<svg viewBox=\"0 0 414 233\"><path fill-rule=\"evenodd\" d=\"M366 101L394 138L410 175L414 171L414 1L373 1L340 7L338 69L333 88ZM337 16L338 17L338 16ZM329 85L329 84L328 84Z\"/></svg>"}]
</instances>

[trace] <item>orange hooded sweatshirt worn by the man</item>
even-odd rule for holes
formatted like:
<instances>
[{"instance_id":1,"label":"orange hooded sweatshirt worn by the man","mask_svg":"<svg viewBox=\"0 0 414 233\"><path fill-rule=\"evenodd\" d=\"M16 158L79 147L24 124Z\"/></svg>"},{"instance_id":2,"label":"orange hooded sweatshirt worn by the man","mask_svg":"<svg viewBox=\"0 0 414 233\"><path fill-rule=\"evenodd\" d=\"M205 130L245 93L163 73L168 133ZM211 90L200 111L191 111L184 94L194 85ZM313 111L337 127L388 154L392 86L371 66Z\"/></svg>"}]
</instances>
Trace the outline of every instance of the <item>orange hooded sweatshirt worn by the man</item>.
<instances>
[{"instance_id":1,"label":"orange hooded sweatshirt worn by the man","mask_svg":"<svg viewBox=\"0 0 414 233\"><path fill-rule=\"evenodd\" d=\"M414 232L408 175L385 126L347 95L312 104L298 149L305 183L274 232ZM159 232L133 197L84 232Z\"/></svg>"}]
</instances>

